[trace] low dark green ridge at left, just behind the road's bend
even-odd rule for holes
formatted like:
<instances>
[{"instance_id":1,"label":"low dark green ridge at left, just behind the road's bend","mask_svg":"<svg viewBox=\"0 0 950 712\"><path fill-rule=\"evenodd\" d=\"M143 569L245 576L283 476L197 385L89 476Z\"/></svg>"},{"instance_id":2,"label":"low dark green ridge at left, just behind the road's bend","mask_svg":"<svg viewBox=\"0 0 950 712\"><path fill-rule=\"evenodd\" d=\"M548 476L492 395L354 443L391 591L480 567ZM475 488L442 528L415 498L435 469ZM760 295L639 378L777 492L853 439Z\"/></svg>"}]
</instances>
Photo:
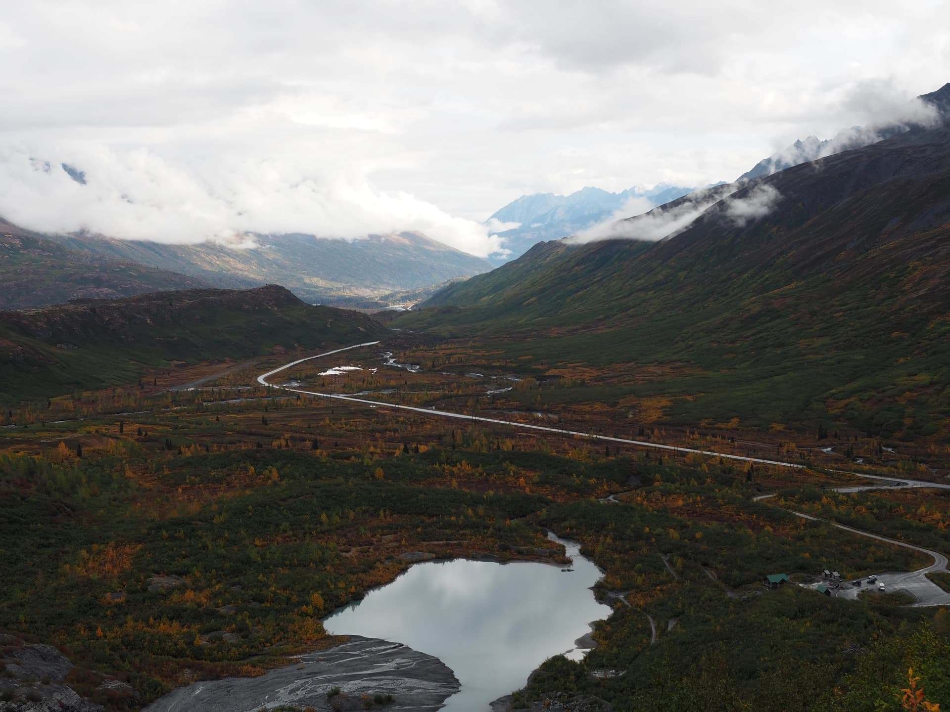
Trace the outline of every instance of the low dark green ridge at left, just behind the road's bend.
<instances>
[{"instance_id":1,"label":"low dark green ridge at left, just behind the road's bend","mask_svg":"<svg viewBox=\"0 0 950 712\"><path fill-rule=\"evenodd\" d=\"M146 366L371 340L383 328L355 311L304 304L270 285L184 290L47 309L0 311L0 401L134 381Z\"/></svg>"}]
</instances>

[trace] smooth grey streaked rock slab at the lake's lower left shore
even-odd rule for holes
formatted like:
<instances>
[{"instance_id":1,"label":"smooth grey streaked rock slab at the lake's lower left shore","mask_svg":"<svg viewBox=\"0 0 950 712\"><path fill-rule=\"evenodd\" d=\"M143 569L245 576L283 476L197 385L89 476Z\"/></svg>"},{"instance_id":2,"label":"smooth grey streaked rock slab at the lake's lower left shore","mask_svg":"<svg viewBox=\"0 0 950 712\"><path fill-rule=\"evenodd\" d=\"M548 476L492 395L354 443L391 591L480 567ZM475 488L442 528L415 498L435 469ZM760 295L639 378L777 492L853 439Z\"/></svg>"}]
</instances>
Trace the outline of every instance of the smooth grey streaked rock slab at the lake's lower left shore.
<instances>
[{"instance_id":1,"label":"smooth grey streaked rock slab at the lake's lower left shore","mask_svg":"<svg viewBox=\"0 0 950 712\"><path fill-rule=\"evenodd\" d=\"M335 687L341 694L328 700L327 693ZM459 681L437 658L399 643L353 635L340 646L300 656L298 665L257 678L227 678L180 687L145 709L256 712L261 707L295 704L330 712L348 700L356 703L363 695L392 695L393 708L436 712L458 690Z\"/></svg>"}]
</instances>

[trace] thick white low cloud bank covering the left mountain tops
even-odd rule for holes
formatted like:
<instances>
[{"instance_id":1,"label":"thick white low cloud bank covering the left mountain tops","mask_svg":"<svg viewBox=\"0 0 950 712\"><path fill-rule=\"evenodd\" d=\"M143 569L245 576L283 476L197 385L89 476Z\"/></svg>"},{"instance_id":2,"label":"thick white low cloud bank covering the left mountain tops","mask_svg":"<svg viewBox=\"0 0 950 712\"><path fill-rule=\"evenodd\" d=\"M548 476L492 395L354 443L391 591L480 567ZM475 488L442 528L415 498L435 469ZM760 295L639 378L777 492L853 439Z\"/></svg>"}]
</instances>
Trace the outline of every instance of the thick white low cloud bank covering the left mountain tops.
<instances>
[{"instance_id":1,"label":"thick white low cloud bank covering the left mountain tops","mask_svg":"<svg viewBox=\"0 0 950 712\"><path fill-rule=\"evenodd\" d=\"M360 238L417 230L466 253L504 252L495 234L504 225L374 190L358 172L321 174L289 159L203 165L103 145L0 149L0 216L44 233L243 247L253 246L247 235L254 233Z\"/></svg>"}]
</instances>

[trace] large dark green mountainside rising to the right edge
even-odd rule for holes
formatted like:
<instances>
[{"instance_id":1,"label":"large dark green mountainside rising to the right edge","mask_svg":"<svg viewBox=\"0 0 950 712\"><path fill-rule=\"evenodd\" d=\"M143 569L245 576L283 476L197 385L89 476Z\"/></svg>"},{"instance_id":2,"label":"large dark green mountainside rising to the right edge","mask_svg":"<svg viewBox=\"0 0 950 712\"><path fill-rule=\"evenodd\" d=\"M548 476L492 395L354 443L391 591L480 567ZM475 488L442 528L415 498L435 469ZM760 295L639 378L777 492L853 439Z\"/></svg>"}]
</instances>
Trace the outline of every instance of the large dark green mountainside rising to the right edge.
<instances>
[{"instance_id":1,"label":"large dark green mountainside rising to the right edge","mask_svg":"<svg viewBox=\"0 0 950 712\"><path fill-rule=\"evenodd\" d=\"M914 130L719 190L672 238L539 245L397 323L598 369L599 397L669 399L670 422L945 433L950 132Z\"/></svg>"}]
</instances>

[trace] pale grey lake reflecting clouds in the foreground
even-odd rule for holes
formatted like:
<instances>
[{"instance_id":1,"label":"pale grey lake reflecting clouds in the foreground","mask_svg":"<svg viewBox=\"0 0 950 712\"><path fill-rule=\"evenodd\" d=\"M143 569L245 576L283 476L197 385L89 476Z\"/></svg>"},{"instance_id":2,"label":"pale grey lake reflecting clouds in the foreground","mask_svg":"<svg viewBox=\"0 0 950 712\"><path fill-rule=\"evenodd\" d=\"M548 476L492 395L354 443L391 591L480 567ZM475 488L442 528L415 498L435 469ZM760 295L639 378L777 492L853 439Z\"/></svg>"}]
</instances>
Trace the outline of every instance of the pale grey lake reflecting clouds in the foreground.
<instances>
[{"instance_id":1,"label":"pale grey lake reflecting clouds in the foreground","mask_svg":"<svg viewBox=\"0 0 950 712\"><path fill-rule=\"evenodd\" d=\"M551 538L565 546L573 571L531 562L415 564L324 626L334 635L382 638L434 655L462 684L443 710L488 710L552 655L580 660L586 650L575 642L611 612L590 590L599 569L580 556L576 542Z\"/></svg>"}]
</instances>

